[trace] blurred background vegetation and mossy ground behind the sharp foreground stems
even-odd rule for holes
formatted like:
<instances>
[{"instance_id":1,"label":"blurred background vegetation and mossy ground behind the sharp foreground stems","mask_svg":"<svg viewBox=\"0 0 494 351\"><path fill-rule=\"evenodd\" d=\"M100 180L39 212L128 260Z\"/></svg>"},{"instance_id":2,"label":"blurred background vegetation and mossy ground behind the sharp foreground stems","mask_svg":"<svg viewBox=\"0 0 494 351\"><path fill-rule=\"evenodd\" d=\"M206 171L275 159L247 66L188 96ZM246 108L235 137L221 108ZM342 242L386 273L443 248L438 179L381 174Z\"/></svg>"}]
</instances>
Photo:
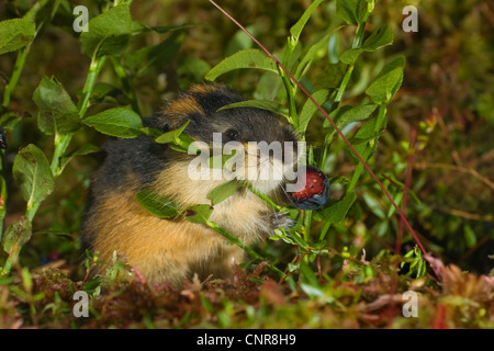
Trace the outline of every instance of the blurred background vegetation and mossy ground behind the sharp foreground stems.
<instances>
[{"instance_id":1,"label":"blurred background vegetation and mossy ground behind the sharp foreground stems","mask_svg":"<svg viewBox=\"0 0 494 351\"><path fill-rule=\"evenodd\" d=\"M438 259L434 262L439 276L429 263L424 271L420 252L414 251L415 241L374 180L363 172L348 214L325 228L324 245L329 254L314 254L307 262L301 258L304 251L300 246L280 240L257 248L281 270L293 269L294 284L278 281L276 275L268 279L269 271L260 263L246 271L238 269L231 281L190 282L181 290L128 276L121 262L115 262L106 276L94 281L86 276L91 260L81 263L77 234L91 171L98 163L98 154L91 152L106 136L83 126L61 150L38 123L46 106L35 91L42 93L37 88L44 77L55 77L53 84L59 82L71 101L78 102L74 103L76 114L92 116L127 106L147 116L180 89L203 81L225 57L255 45L207 1L134 0L132 20L154 30L135 27L125 52L106 58L85 106L93 52L90 45L81 45L83 39L74 31L71 10L85 4L92 19L108 11L113 1L38 4L36 10L32 1L8 0L0 7L2 21L37 11L31 12L36 21L35 38L7 104L7 87L25 47L0 56L0 122L9 144L2 155L7 212L5 252L0 253L4 272L0 278L1 328L494 326L494 8L487 1L377 1L363 34L369 37L386 24L393 44L363 52L355 60L340 101L340 105L368 102L366 89L381 69L400 55L405 57L402 87L386 106L388 124L369 163L406 212L424 246ZM285 46L290 29L310 4L304 0L221 2L272 53ZM418 9L417 33L402 30L402 10L408 4ZM308 48L344 21L337 15L336 1L323 1L300 41ZM339 87L340 82L332 79L343 76L338 58L351 47L355 36L355 25L345 25L332 36L307 70L305 83ZM250 99L283 99L282 81L262 70L235 70L217 80ZM42 87L49 86L46 79ZM280 93L273 95L277 91ZM301 94L294 98L297 106L303 105ZM332 109L330 104L325 107ZM324 117L316 113L307 126L306 138L316 156L323 151L328 131L321 127L323 123ZM356 126L348 128L355 131ZM18 152L29 144L43 150L48 160L57 148L61 155L74 150L81 155L57 173L53 192L31 212L33 235L27 242L5 240L11 225L27 226L22 219L26 199L12 171ZM55 171L60 166L48 165ZM334 184L333 201L345 193L345 179L351 179L357 167L345 143L335 137L322 167ZM404 203L405 193L408 201ZM318 235L324 223L316 217L313 234ZM15 231L15 238L22 239L22 231ZM15 248L22 248L19 260L12 256ZM12 263L11 272L5 271L8 262ZM90 293L91 318L72 316L76 290ZM402 315L402 293L409 290L420 293L418 318Z\"/></svg>"}]
</instances>

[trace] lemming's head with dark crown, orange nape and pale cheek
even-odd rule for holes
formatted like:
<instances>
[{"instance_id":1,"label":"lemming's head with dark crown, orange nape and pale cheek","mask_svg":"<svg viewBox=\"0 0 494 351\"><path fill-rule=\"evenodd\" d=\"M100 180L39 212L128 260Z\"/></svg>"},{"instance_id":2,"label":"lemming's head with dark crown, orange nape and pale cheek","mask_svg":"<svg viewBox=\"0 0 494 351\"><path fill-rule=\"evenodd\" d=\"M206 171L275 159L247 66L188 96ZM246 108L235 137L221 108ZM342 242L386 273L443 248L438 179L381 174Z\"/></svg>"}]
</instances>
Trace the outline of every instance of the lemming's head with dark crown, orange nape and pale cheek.
<instances>
[{"instance_id":1,"label":"lemming's head with dark crown, orange nape and pale cheek","mask_svg":"<svg viewBox=\"0 0 494 351\"><path fill-rule=\"evenodd\" d=\"M267 110L221 110L240 101L245 99L224 86L195 86L162 110L155 127L170 131L190 121L183 133L195 139L201 150L209 149L201 152L203 157L236 155L226 162L223 176L270 192L285 180L287 172L293 172L299 138L290 124Z\"/></svg>"}]
</instances>

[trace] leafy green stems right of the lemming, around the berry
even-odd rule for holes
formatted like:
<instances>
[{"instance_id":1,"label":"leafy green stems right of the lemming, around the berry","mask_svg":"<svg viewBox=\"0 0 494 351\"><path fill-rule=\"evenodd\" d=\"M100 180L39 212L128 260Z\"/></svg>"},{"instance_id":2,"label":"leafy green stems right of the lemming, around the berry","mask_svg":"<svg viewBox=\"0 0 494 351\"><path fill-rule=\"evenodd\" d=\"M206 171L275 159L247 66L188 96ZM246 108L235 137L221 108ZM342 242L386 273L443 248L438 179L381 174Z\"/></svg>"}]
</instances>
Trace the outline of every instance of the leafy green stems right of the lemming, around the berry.
<instances>
[{"instance_id":1,"label":"leafy green stems right of the lemming, around the berry","mask_svg":"<svg viewBox=\"0 0 494 351\"><path fill-rule=\"evenodd\" d=\"M285 67L290 67L292 71L295 71L295 77L299 79L306 79L305 76L308 72L308 66L311 64L314 64L318 58L316 53L324 48L324 45L329 38L329 35L336 33L341 29L340 26L337 26L329 34L323 36L323 38L319 39L314 46L307 49L303 48L303 45L300 42L302 29L307 23L311 13L315 11L319 3L319 1L315 1L314 3L312 3L311 7L301 16L301 19L292 26L290 31L291 36L289 37L288 44L281 50L283 52L282 64ZM341 16L341 19L350 24L358 25L359 29L363 27L362 25L367 22L370 12L372 12L371 9L372 7L368 7L367 1L337 2L337 13ZM345 90L347 89L347 84L350 81L358 56L362 52L377 52L378 49L390 45L392 43L392 39L393 35L388 25L381 25L380 27L374 30L367 39L363 39L363 31L358 30L353 39L352 47L344 52L344 54L341 54L339 57L343 64L348 65L344 70L344 76L339 81L339 86L323 87L323 89L312 92L313 99L321 105L324 105L328 99L336 100L330 105L329 118L332 118L336 123L337 127L341 128L350 123L362 121L366 121L366 125L371 126L371 128L360 128L360 134L357 133L353 139L353 143L356 143L356 145L360 145L359 152L361 152L366 161L375 151L375 145L378 138L381 135L379 132L386 124L386 105L391 102L393 95L396 93L403 80L404 60L402 58L398 58L386 65L383 68L382 72L375 77L375 81L370 84L366 92L369 94L374 104L338 106L338 103L341 100ZM311 141L306 138L305 133L311 120L317 111L317 107L310 99L305 99L302 105L297 104L297 86L291 81L284 70L274 69L276 67L272 66L272 61L267 63L266 58L263 57L263 53L260 49L251 48L238 52L213 67L210 73L206 75L206 79L215 80L217 77L227 73L233 69L248 67L255 69L268 69L276 72L283 82L285 89L285 99L283 99L282 101L246 101L242 102L240 104L235 104L235 106L242 105L261 107L284 115L288 118L289 123L291 123L293 127L302 135L302 139ZM330 93L332 89L335 89L336 98ZM288 107L284 107L285 102L288 103ZM379 113L377 115L373 115L373 112L377 110L378 104L380 104L381 107L379 110ZM324 122L323 126L325 127L325 131L327 133L324 141L324 148L325 150L327 150L330 147L330 143L334 138L334 135L336 134L336 129L334 129L333 126L327 122ZM313 140L313 143L318 141ZM312 150L312 147L310 149ZM314 161L314 157L311 157L311 154L307 156L308 158L307 160L305 160L306 163L315 165L318 168L324 169L327 157L326 152L319 156L318 162ZM314 239L311 238L310 233L313 231L311 229L313 224L317 222L324 224L319 235L316 236L316 238L319 238L318 240L324 240L329 226L332 224L339 224L346 218L349 210L357 199L353 189L361 172L362 165L360 163L357 168L357 171L353 173L350 183L344 184L346 191L340 196L340 199L332 200L325 207L314 212L314 215L312 215L312 213L308 211L305 211L303 214L300 213L299 215L296 215L295 217L300 216L300 220L303 222L302 227L295 227L296 229L292 228L287 231L283 230L282 233L278 233L278 236L284 241L297 245L300 252L312 252L312 254L305 256L304 264L313 262L317 254L321 254L322 252L318 248L316 248L321 246L321 242L312 242L312 240ZM257 192L257 194L259 193ZM262 195L262 199L265 197L266 196ZM274 206L274 208L277 207ZM323 245L324 242L325 241L323 241ZM292 270L290 270L290 272L292 272Z\"/></svg>"}]
</instances>

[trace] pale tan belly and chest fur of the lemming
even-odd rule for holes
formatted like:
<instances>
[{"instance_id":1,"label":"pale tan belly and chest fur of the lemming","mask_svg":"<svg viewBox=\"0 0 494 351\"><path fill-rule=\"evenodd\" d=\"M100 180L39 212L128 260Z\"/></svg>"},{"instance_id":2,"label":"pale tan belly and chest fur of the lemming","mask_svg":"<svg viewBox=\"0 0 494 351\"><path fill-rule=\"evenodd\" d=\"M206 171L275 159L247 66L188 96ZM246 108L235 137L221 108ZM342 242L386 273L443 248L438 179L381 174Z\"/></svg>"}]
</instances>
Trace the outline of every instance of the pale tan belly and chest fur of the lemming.
<instances>
[{"instance_id":1,"label":"pale tan belly and chest fur of the lemming","mask_svg":"<svg viewBox=\"0 0 494 351\"><path fill-rule=\"evenodd\" d=\"M183 170L180 171L178 166L173 166L170 172L180 174L173 178L169 172L164 172L157 183L162 185L162 179L186 180L182 177ZM176 181L170 185L165 181L165 188L155 189L166 189L161 191L162 195L176 195L176 201L183 208L211 203L205 195L214 186L207 183L209 186L193 186L187 181ZM190 196L183 196L184 193ZM137 203L135 194L135 189L117 192L109 195L99 206L92 226L100 234L104 233L94 241L94 248L102 260L110 261L115 250L125 256L127 263L137 267L147 280L175 284L188 278L191 269L202 276L214 274L225 278L232 273L231 264L234 261L243 262L242 249L227 242L213 229L189 223L184 218L171 220L155 217ZM232 233L244 234L240 239L250 244L258 238L259 233L268 231L268 228L262 228L258 216L266 215L269 211L256 195L243 192L214 206L211 220ZM110 222L109 214L117 220ZM248 235L252 233L256 235Z\"/></svg>"}]
</instances>

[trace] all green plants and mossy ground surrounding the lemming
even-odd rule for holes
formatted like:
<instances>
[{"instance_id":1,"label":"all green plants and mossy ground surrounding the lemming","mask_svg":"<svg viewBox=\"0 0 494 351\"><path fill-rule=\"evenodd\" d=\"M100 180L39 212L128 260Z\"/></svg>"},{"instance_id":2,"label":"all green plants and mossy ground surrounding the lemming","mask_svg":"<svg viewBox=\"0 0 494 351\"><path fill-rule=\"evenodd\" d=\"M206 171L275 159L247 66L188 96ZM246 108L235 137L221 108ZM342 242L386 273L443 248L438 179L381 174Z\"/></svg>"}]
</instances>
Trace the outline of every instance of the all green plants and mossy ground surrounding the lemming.
<instances>
[{"instance_id":1,"label":"all green plants and mossy ground surrounding the lemming","mask_svg":"<svg viewBox=\"0 0 494 351\"><path fill-rule=\"evenodd\" d=\"M451 265L439 269L437 285L428 257L403 229L382 189L317 106L247 36L207 4L191 1L190 11L177 16L171 2L135 0L131 8L132 2L89 1L89 32L80 34L71 29L68 1L14 0L0 9L0 126L9 139L0 151L1 328L85 326L71 315L76 290L91 297L86 327L492 328L492 280ZM259 1L239 3L235 15L252 24L248 29L375 170L429 253L487 272L494 240L486 127L494 121L494 81L486 73L492 31L478 20L484 11L478 1L430 1L420 3L428 14L420 16L420 35L403 33L400 5ZM197 23L198 11L207 13L206 25L183 24ZM329 176L332 197L321 210L302 212L232 181L210 192L211 203L179 208L146 189L136 201L153 215L183 216L245 249L251 259L243 265L247 273L236 268L233 280L173 290L147 284L115 254L108 273L91 280L90 270L101 262L88 256L86 267L74 263L79 244L72 240L92 170L88 155L99 151L101 134L145 134L187 152L193 141L182 133L187 123L161 135L143 127L141 116L178 87L203 79L222 79L255 97L224 109L260 107L291 123L307 141L306 163ZM411 129L416 143L408 141ZM246 246L211 220L214 206L240 188L296 225L274 230L266 245ZM389 253L393 247L395 254ZM85 270L83 278L38 273L54 253L70 271ZM279 281L262 275L265 270ZM400 306L379 305L382 296L409 290L420 292L424 315L389 319Z\"/></svg>"}]
</instances>

